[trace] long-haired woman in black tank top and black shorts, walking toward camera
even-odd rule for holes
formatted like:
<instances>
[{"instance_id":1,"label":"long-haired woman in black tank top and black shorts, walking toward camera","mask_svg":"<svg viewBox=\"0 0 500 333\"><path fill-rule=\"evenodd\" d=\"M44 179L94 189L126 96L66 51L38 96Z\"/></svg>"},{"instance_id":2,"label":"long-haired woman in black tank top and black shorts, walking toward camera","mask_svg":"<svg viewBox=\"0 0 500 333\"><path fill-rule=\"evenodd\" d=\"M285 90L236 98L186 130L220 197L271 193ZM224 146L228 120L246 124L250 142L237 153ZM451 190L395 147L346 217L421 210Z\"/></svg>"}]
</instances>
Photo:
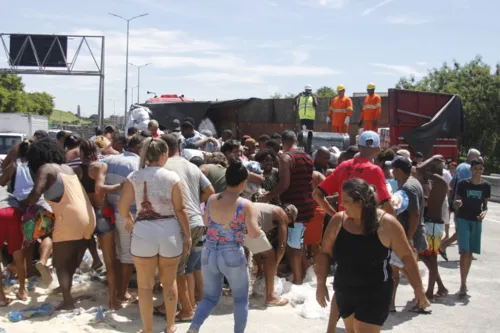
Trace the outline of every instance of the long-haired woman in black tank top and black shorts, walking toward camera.
<instances>
[{"instance_id":1,"label":"long-haired woman in black tank top and black shorts, walking toward camera","mask_svg":"<svg viewBox=\"0 0 500 333\"><path fill-rule=\"evenodd\" d=\"M393 293L391 252L402 259L415 290L417 306L430 305L422 278L401 224L377 209L375 191L354 178L342 186L342 205L328 225L317 262L316 298L322 307L329 300L326 278L332 258L337 262L334 277L336 307L349 332L378 333L389 315ZM335 332L337 318L330 315L327 333ZM332 324L333 323L333 324Z\"/></svg>"}]
</instances>

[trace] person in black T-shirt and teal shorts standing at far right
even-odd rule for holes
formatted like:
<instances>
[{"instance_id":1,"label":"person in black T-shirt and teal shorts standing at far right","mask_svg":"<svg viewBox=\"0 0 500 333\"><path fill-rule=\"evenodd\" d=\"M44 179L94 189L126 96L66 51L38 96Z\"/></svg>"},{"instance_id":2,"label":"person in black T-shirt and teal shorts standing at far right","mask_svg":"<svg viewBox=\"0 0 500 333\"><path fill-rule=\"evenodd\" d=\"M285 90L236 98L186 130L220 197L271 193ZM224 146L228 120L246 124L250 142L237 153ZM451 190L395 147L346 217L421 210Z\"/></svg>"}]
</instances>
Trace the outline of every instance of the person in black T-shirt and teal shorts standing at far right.
<instances>
[{"instance_id":1,"label":"person in black T-shirt and teal shorts standing at far right","mask_svg":"<svg viewBox=\"0 0 500 333\"><path fill-rule=\"evenodd\" d=\"M490 183L481 179L484 172L482 158L470 163L472 177L458 183L456 204L458 251L460 253L460 297L466 297L467 277L472 265L472 254L481 254L481 233L483 220L488 213L488 200L491 196Z\"/></svg>"}]
</instances>

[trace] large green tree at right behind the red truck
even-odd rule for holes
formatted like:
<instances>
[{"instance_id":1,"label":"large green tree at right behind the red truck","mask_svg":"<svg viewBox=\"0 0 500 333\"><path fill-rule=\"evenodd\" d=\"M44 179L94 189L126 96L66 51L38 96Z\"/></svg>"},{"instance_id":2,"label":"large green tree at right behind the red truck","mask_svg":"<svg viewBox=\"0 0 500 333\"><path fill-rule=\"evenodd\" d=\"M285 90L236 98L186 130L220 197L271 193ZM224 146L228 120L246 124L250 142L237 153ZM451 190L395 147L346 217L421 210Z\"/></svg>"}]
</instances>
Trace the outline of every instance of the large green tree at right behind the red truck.
<instances>
[{"instance_id":1,"label":"large green tree at right behind the red truck","mask_svg":"<svg viewBox=\"0 0 500 333\"><path fill-rule=\"evenodd\" d=\"M459 95L465 111L461 153L477 148L487 158L489 170L500 166L500 65L492 70L480 56L464 65L453 61L418 81L401 78L396 88Z\"/></svg>"}]
</instances>

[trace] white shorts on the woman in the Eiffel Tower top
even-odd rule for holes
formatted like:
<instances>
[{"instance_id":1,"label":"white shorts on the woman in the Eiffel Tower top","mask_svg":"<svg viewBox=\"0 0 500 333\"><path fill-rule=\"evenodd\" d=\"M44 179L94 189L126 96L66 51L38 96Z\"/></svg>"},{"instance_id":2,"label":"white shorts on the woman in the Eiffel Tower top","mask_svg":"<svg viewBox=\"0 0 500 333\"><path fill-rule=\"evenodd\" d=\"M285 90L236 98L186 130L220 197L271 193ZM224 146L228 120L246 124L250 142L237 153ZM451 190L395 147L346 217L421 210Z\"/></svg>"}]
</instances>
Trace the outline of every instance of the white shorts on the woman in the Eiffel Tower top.
<instances>
[{"instance_id":1,"label":"white shorts on the woman in the Eiffel Tower top","mask_svg":"<svg viewBox=\"0 0 500 333\"><path fill-rule=\"evenodd\" d=\"M157 255L177 258L182 254L183 241L181 226L177 219L137 221L132 231L130 252L139 258Z\"/></svg>"}]
</instances>

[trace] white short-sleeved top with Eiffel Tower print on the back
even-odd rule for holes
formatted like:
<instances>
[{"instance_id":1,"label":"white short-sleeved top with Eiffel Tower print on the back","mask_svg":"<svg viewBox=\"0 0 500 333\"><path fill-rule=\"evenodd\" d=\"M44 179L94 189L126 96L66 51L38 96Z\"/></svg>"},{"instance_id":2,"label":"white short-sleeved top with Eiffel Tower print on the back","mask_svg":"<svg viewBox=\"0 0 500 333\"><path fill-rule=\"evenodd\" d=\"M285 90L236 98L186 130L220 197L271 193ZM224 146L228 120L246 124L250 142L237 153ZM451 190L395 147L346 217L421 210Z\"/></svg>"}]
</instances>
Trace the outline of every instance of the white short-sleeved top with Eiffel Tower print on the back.
<instances>
[{"instance_id":1,"label":"white short-sleeved top with Eiffel Tower print on the back","mask_svg":"<svg viewBox=\"0 0 500 333\"><path fill-rule=\"evenodd\" d=\"M128 179L134 186L137 221L175 216L172 189L181 181L175 172L161 167L146 167L132 172Z\"/></svg>"}]
</instances>

